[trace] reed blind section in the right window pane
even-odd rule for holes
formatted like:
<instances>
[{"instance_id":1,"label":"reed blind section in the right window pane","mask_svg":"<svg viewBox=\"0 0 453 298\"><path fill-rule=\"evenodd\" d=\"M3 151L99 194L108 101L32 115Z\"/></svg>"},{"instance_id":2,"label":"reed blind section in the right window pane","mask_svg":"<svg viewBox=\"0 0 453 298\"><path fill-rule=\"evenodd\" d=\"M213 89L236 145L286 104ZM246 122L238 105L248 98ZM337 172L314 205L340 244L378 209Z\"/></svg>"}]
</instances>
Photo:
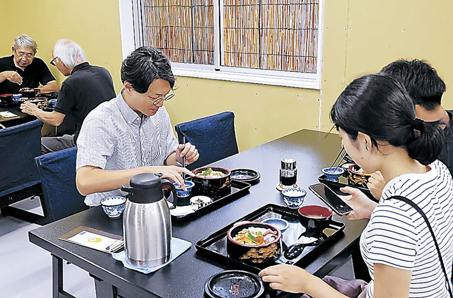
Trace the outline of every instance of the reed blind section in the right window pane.
<instances>
[{"instance_id":1,"label":"reed blind section in the right window pane","mask_svg":"<svg viewBox=\"0 0 453 298\"><path fill-rule=\"evenodd\" d=\"M225 66L316 73L319 0L224 0Z\"/></svg>"}]
</instances>

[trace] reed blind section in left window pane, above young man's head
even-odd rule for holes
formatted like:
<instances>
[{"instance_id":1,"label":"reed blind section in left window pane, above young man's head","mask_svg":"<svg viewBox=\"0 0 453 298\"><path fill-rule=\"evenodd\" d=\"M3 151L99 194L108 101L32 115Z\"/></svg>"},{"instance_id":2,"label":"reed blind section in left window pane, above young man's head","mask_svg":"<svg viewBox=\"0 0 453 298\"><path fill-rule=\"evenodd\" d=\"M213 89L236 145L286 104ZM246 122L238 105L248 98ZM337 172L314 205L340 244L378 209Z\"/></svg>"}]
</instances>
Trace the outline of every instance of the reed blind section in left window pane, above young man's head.
<instances>
[{"instance_id":1,"label":"reed blind section in left window pane, above young man's head","mask_svg":"<svg viewBox=\"0 0 453 298\"><path fill-rule=\"evenodd\" d=\"M142 0L145 45L170 61L214 64L213 0Z\"/></svg>"}]
</instances>

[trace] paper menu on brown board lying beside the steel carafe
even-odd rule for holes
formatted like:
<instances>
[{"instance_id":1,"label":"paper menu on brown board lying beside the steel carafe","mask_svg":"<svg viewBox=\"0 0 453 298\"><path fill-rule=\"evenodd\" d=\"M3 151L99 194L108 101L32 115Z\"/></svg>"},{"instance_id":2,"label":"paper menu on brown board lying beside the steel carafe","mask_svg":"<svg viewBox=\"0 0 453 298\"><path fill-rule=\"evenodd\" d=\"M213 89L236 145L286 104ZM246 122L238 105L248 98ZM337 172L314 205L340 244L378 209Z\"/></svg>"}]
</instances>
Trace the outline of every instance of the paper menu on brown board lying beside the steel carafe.
<instances>
[{"instance_id":1,"label":"paper menu on brown board lying beside the steel carafe","mask_svg":"<svg viewBox=\"0 0 453 298\"><path fill-rule=\"evenodd\" d=\"M59 239L80 244L105 253L115 252L124 245L124 240L119 235L84 226L73 229L65 235L62 235Z\"/></svg>"}]
</instances>

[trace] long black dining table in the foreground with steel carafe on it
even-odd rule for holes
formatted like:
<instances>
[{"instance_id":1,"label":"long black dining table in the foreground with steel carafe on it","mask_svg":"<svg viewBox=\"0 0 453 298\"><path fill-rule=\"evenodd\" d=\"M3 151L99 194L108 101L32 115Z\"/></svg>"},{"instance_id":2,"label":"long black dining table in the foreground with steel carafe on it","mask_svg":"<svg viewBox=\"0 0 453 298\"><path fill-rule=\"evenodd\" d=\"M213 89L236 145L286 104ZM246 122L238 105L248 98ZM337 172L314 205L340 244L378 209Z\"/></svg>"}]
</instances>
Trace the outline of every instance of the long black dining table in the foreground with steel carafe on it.
<instances>
[{"instance_id":1,"label":"long black dining table in the foreground with steel carafe on it","mask_svg":"<svg viewBox=\"0 0 453 298\"><path fill-rule=\"evenodd\" d=\"M192 242L192 247L154 273L143 274L127 269L108 253L58 239L81 225L122 235L121 219L109 219L100 206L31 230L29 238L32 243L49 251L53 256L55 298L73 297L63 288L63 260L90 273L95 279L99 298L203 297L204 284L210 276L226 269L238 268L197 253L194 243L263 205L274 203L285 206L281 194L275 188L282 158L294 158L297 161L297 183L307 191L304 205L324 205L308 191L308 185L318 182L321 169L332 163L340 148L338 134L301 130L214 163L229 169L255 169L261 174L261 179L250 188L249 193L218 209L187 222L173 222L173 237ZM319 277L329 274L356 252L360 234L367 224L367 220L347 221L344 217L334 217L334 220L346 225L340 237L321 253L310 256L303 264L298 264ZM300 294L268 291L266 297L300 297Z\"/></svg>"}]
</instances>

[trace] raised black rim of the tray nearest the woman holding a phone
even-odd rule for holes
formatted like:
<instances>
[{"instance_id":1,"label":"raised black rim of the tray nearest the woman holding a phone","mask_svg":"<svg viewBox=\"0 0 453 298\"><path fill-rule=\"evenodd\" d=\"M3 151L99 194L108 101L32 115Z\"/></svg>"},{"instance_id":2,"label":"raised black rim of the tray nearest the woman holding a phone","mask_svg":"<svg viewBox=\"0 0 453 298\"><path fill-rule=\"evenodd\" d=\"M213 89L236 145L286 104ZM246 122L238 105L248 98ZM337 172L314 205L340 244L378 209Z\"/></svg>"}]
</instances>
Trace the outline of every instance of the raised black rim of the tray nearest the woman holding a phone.
<instances>
[{"instance_id":1,"label":"raised black rim of the tray nearest the woman holding a phone","mask_svg":"<svg viewBox=\"0 0 453 298\"><path fill-rule=\"evenodd\" d=\"M264 205L264 206L260 207L259 209L256 209L255 211L252 211L249 214L243 216L242 218L234 221L233 223L228 224L228 225L224 226L223 228L220 228L219 230L215 231L214 233L210 234L209 236L196 241L195 249L197 250L197 253L200 253L200 254L202 254L204 256L208 256L208 257L209 256L215 257L214 261L216 261L216 262L220 262L220 263L227 264L227 265L234 264L235 267L237 267L237 268L244 268L246 270L249 270L250 272L258 274L259 271L261 271L261 268L254 267L254 266L251 266L248 264L244 264L239 261L230 260L227 257L225 257L224 255L220 255L219 253L210 251L209 249L203 247L203 245L206 245L207 243L215 242L218 240L219 237L223 238L224 237L223 234L226 233L229 230L229 228L231 226L233 226L235 223L247 221L250 217L259 217L263 213L267 212L268 209L271 209L271 208L277 209L282 212L290 213L290 214L293 214L295 212L293 209L290 209L288 207L284 207L284 206L280 206L280 205L276 205L276 204L272 204L272 203ZM329 236L327 239L325 239L322 243L320 243L315 248L313 248L311 251L309 251L307 254L305 254L297 262L291 263L291 265L298 265L298 264L303 263L307 259L307 256L312 256L313 254L317 253L319 248L324 247L326 245L326 243L330 243L332 241L332 239L340 236L340 232L342 232L344 230L346 224L332 220L331 224L329 224L328 227L332 227L332 226L338 228L337 231L335 231L335 233L333 233L331 236ZM231 269L231 268L229 268L229 269Z\"/></svg>"}]
</instances>

